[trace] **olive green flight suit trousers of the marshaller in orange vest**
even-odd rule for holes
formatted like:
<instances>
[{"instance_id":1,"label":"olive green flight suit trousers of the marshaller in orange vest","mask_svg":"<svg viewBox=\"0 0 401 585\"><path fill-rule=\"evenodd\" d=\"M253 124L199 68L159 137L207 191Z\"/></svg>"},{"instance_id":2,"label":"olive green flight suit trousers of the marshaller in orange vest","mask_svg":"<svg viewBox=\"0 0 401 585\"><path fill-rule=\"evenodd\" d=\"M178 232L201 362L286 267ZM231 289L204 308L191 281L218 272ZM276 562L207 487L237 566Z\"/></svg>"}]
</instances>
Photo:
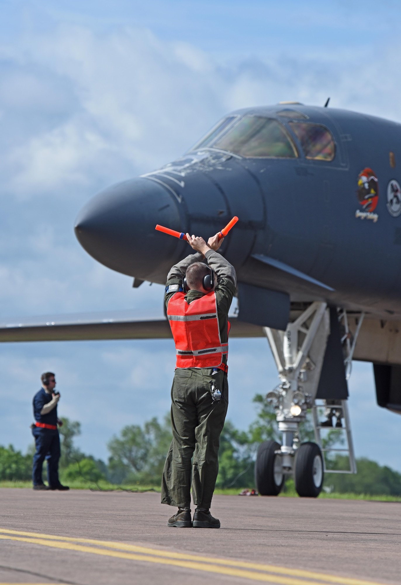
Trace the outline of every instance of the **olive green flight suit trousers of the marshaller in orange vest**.
<instances>
[{"instance_id":1,"label":"olive green flight suit trousers of the marshaller in orange vest","mask_svg":"<svg viewBox=\"0 0 401 585\"><path fill-rule=\"evenodd\" d=\"M229 405L227 375L212 368L177 368L171 388L172 442L164 464L161 503L210 508L219 472L220 433ZM210 380L222 392L219 401L210 394Z\"/></svg>"}]
</instances>

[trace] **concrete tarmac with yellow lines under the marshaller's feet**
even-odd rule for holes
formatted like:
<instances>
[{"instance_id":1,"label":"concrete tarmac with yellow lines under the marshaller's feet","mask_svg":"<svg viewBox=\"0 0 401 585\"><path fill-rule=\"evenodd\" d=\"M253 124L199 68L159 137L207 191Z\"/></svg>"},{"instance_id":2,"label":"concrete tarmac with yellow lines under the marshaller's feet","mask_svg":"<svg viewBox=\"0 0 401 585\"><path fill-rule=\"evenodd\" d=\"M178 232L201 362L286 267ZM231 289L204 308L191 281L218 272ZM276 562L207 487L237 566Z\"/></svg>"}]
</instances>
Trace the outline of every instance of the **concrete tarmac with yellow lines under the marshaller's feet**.
<instances>
[{"instance_id":1,"label":"concrete tarmac with yellow lines under the marshaller's feet","mask_svg":"<svg viewBox=\"0 0 401 585\"><path fill-rule=\"evenodd\" d=\"M216 495L219 530L168 528L160 494L0 489L0 583L401 581L401 504Z\"/></svg>"}]
</instances>

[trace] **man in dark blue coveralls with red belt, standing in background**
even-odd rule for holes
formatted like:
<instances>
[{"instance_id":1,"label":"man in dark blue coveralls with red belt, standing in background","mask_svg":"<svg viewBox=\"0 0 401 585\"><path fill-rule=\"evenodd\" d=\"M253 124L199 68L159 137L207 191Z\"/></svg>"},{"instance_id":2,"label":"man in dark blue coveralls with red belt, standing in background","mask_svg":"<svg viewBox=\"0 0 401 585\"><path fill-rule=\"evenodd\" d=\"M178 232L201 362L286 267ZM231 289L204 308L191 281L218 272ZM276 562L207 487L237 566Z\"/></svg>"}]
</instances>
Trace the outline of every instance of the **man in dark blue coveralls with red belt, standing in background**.
<instances>
[{"instance_id":1,"label":"man in dark blue coveralls with red belt, standing in background","mask_svg":"<svg viewBox=\"0 0 401 585\"><path fill-rule=\"evenodd\" d=\"M56 388L56 378L51 371L46 371L40 377L42 388L33 397L33 416L35 422L32 434L36 443L36 453L33 456L32 480L34 490L69 490L62 486L58 479L58 460L60 459L60 437L57 425L63 423L57 418L57 402L60 394ZM46 486L42 480L42 466L47 461Z\"/></svg>"}]
</instances>

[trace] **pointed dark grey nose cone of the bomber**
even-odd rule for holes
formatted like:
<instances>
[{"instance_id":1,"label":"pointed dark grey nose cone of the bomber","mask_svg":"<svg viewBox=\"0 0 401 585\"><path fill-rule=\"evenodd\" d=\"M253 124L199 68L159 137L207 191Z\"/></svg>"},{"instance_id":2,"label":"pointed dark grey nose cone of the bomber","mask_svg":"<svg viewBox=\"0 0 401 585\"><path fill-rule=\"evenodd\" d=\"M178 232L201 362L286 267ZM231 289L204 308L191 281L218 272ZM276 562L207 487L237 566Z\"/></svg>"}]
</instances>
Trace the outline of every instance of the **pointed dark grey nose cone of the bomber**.
<instances>
[{"instance_id":1,"label":"pointed dark grey nose cone of the bomber","mask_svg":"<svg viewBox=\"0 0 401 585\"><path fill-rule=\"evenodd\" d=\"M75 235L112 270L164 283L179 240L156 232L157 223L179 230L177 205L161 185L134 178L90 199L78 214Z\"/></svg>"}]
</instances>

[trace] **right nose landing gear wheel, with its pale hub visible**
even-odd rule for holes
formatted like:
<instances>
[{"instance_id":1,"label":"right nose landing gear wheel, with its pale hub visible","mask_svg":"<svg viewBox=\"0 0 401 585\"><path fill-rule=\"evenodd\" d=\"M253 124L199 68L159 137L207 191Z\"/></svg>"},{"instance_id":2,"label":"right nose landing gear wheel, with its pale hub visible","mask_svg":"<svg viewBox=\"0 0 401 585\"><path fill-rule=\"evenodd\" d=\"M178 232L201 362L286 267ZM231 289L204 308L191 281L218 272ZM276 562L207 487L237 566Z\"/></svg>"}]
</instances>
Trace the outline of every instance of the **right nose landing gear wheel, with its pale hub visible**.
<instances>
[{"instance_id":1,"label":"right nose landing gear wheel, with its pale hub visible","mask_svg":"<svg viewBox=\"0 0 401 585\"><path fill-rule=\"evenodd\" d=\"M319 445L300 445L295 457L295 489L303 498L317 498L323 486L323 457Z\"/></svg>"}]
</instances>

